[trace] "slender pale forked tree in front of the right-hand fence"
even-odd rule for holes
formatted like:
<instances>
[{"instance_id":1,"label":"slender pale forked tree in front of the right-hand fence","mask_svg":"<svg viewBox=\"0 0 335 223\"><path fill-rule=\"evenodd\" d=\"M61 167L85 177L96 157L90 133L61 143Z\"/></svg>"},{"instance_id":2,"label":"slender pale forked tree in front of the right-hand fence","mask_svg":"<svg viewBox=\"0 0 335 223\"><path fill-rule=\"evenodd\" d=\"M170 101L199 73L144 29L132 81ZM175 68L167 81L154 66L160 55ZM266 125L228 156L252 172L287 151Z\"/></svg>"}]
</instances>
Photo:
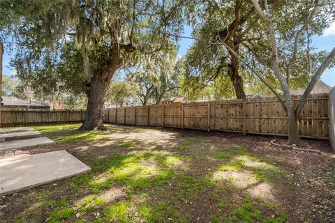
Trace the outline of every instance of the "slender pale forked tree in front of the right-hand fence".
<instances>
[{"instance_id":1,"label":"slender pale forked tree in front of the right-hand fence","mask_svg":"<svg viewBox=\"0 0 335 223\"><path fill-rule=\"evenodd\" d=\"M330 4L330 1L323 1L325 5L321 5L319 1L306 1L302 3L285 1L273 6L273 10L271 10L267 5L267 1L264 1L264 9L260 6L258 0L251 1L255 6L260 20L264 22L269 36L264 45L269 45L271 54L269 57L263 55L260 62L273 70L283 91L285 102L282 105L288 115L288 144L300 144L301 139L297 130L297 116L299 116L308 95L311 93L316 82L318 82L318 79L320 79L322 72L334 60L335 47L322 63L319 64L318 69L315 70L311 82L308 83L297 107L295 107L290 93L291 71L295 63L297 63L297 54L299 51L304 50L303 48L309 41L303 33L308 27L310 27L310 32L322 32L327 25L327 21L329 21L329 17L330 19L332 17L334 19L332 13L326 13L324 10L332 12L334 11L334 8L332 8L334 5ZM283 24L283 22L286 23Z\"/></svg>"}]
</instances>

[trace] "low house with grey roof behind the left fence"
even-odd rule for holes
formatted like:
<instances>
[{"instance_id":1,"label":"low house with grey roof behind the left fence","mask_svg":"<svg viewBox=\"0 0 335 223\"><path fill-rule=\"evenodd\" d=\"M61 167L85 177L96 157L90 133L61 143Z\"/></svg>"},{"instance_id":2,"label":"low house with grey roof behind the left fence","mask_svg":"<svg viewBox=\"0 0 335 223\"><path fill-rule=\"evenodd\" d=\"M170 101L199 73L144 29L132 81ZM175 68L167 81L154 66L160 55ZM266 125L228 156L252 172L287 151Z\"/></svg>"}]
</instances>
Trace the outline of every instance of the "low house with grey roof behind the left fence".
<instances>
[{"instance_id":1,"label":"low house with grey roof behind the left fence","mask_svg":"<svg viewBox=\"0 0 335 223\"><path fill-rule=\"evenodd\" d=\"M2 96L1 108L50 109L50 105L36 100L22 100L14 96Z\"/></svg>"}]
</instances>

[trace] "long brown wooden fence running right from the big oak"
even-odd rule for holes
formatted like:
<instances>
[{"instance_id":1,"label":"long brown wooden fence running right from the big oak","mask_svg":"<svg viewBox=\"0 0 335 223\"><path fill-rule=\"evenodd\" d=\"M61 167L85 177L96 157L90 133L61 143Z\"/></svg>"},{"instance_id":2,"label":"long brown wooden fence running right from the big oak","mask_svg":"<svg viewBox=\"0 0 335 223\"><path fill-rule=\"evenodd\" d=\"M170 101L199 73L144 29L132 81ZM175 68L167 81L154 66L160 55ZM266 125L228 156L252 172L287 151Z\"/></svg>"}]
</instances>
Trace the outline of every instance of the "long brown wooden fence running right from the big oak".
<instances>
[{"instance_id":1,"label":"long brown wooden fence running right from the big oak","mask_svg":"<svg viewBox=\"0 0 335 223\"><path fill-rule=\"evenodd\" d=\"M293 97L295 104L300 96ZM104 110L105 123L150 125L251 134L287 135L287 117L276 98L188 102ZM297 120L301 137L329 139L329 96L311 95Z\"/></svg>"}]
</instances>

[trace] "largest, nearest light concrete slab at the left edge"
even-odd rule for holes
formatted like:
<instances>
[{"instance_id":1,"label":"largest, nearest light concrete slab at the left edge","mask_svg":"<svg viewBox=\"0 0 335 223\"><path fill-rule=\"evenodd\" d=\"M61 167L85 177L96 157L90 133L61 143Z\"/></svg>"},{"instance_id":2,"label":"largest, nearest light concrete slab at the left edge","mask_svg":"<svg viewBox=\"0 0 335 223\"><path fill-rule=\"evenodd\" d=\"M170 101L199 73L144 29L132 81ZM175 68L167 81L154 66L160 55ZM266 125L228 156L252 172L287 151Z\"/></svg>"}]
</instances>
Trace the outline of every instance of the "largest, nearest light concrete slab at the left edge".
<instances>
[{"instance_id":1,"label":"largest, nearest light concrete slab at the left edge","mask_svg":"<svg viewBox=\"0 0 335 223\"><path fill-rule=\"evenodd\" d=\"M0 195L12 194L90 170L67 151L17 157L0 162Z\"/></svg>"}]
</instances>

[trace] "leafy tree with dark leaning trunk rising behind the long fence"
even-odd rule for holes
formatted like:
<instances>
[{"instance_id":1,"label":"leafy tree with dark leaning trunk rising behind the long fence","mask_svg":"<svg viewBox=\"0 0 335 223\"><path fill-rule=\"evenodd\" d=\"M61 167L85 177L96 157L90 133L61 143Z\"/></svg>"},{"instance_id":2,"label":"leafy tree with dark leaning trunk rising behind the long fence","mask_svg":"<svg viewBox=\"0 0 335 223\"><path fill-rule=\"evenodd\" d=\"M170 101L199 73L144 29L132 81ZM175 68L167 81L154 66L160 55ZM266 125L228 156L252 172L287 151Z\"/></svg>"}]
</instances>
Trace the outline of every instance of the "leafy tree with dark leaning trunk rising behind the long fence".
<instances>
[{"instance_id":1,"label":"leafy tree with dark leaning trunk rising behind the long fence","mask_svg":"<svg viewBox=\"0 0 335 223\"><path fill-rule=\"evenodd\" d=\"M255 24L253 5L241 0L220 3L206 1L186 4L186 12L190 17L195 17L193 36L198 39L186 56L186 63L191 67L186 69L186 75L199 76L197 80L200 79L204 86L214 82L216 78L222 81L221 76L227 75L234 87L236 98L245 99L239 58L232 52L225 52L215 43L223 41L240 54L243 43L257 41L260 37L251 29Z\"/></svg>"}]
</instances>

